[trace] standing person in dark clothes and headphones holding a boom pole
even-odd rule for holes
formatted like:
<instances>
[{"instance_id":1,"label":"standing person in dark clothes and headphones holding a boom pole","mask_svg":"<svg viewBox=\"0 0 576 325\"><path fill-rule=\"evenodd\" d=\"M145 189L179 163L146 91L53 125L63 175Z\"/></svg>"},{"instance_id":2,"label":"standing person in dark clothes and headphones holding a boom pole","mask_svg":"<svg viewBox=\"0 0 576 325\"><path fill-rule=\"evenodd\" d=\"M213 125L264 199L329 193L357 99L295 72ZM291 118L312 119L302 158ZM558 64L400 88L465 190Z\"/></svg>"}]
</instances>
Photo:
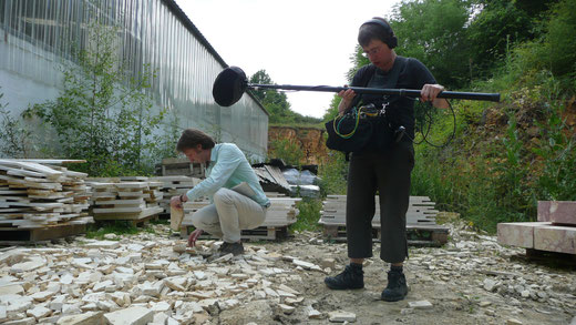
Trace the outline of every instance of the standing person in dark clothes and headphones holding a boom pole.
<instances>
[{"instance_id":1,"label":"standing person in dark clothes and headphones holding a boom pole","mask_svg":"<svg viewBox=\"0 0 576 325\"><path fill-rule=\"evenodd\" d=\"M438 108L449 106L445 100L436 99L444 88L436 83L424 64L412 58L397 55L393 49L398 39L384 19L373 18L362 23L358 42L371 64L356 73L352 87L422 89L421 101L432 102ZM383 104L390 104L385 116L391 121L392 129L402 133L387 148L368 145L368 149L351 154L346 207L350 264L342 273L326 277L325 283L332 290L364 286L362 263L372 256L371 223L378 191L382 230L380 257L391 264L388 285L381 297L387 302L401 301L408 294L403 262L408 256L405 213L410 200L410 174L414 166L413 99L356 95L351 89L338 95L342 98L338 106L340 115L352 106L374 104L382 108Z\"/></svg>"}]
</instances>

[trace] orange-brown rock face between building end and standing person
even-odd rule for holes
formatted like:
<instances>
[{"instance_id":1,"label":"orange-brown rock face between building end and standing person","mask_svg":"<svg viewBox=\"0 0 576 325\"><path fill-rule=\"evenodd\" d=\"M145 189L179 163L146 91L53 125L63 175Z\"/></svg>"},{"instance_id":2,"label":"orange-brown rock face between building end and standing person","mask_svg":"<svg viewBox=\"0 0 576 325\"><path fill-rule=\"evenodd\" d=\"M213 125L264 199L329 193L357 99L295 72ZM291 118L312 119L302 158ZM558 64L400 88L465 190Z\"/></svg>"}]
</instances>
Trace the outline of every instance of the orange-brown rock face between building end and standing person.
<instances>
[{"instance_id":1,"label":"orange-brown rock face between building end and standing person","mask_svg":"<svg viewBox=\"0 0 576 325\"><path fill-rule=\"evenodd\" d=\"M304 152L302 164L320 164L327 155L326 131L315 128L296 126L269 126L268 128L268 151L274 148L278 140L288 140L297 143Z\"/></svg>"}]
</instances>

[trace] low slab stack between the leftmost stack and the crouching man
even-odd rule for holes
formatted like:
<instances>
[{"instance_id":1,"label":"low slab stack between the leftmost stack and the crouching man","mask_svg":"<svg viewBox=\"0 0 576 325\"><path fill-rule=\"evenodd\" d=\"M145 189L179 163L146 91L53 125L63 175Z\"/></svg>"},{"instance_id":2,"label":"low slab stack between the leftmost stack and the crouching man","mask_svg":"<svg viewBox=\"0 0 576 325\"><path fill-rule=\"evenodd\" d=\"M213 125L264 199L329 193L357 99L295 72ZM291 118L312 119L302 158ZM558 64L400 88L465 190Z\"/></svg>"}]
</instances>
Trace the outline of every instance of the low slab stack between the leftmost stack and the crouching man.
<instances>
[{"instance_id":1,"label":"low slab stack between the leftmost stack and the crouching man","mask_svg":"<svg viewBox=\"0 0 576 325\"><path fill-rule=\"evenodd\" d=\"M94 220L140 221L163 211L161 182L90 182Z\"/></svg>"}]
</instances>

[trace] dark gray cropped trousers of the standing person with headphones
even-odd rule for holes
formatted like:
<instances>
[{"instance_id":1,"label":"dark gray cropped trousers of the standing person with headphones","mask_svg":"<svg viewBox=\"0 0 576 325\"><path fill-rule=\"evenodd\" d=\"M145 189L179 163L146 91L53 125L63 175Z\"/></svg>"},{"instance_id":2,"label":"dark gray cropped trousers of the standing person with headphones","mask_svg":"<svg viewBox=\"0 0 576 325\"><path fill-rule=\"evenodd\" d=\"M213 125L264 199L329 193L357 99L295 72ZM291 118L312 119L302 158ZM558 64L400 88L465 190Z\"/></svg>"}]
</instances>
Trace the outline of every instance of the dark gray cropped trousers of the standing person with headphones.
<instances>
[{"instance_id":1,"label":"dark gray cropped trousers of the standing person with headphones","mask_svg":"<svg viewBox=\"0 0 576 325\"><path fill-rule=\"evenodd\" d=\"M411 142L397 143L387 153L352 153L348 171L346 234L348 257L372 257L372 219L380 197L380 258L401 263L408 256L407 219L410 174L414 167Z\"/></svg>"}]
</instances>

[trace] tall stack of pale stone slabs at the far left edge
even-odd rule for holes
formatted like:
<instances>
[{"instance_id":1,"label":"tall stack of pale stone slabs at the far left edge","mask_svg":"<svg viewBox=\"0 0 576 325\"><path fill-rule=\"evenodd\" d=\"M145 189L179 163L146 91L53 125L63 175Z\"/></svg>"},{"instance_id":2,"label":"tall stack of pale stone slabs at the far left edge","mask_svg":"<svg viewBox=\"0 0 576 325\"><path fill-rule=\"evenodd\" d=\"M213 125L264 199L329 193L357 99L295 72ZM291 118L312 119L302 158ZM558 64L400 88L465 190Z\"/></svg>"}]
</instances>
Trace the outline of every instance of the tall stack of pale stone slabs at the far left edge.
<instances>
[{"instance_id":1,"label":"tall stack of pale stone slabs at the far left edge","mask_svg":"<svg viewBox=\"0 0 576 325\"><path fill-rule=\"evenodd\" d=\"M92 223L86 174L41 162L0 160L0 227L32 230Z\"/></svg>"}]
</instances>

